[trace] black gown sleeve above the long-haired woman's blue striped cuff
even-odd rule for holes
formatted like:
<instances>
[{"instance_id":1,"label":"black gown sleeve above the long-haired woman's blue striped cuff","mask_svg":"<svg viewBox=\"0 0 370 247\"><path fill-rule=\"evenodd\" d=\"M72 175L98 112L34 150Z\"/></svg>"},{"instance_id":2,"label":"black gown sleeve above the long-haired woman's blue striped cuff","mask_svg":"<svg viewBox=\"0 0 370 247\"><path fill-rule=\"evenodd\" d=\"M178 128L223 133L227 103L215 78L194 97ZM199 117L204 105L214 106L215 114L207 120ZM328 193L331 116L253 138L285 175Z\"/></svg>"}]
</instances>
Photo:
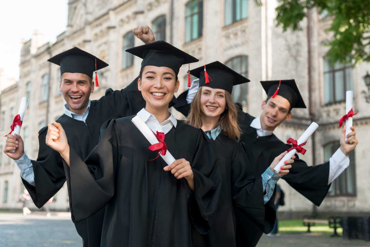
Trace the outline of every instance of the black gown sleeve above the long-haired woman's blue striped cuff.
<instances>
[{"instance_id":1,"label":"black gown sleeve above the long-haired woman's blue striped cuff","mask_svg":"<svg viewBox=\"0 0 370 247\"><path fill-rule=\"evenodd\" d=\"M263 203L262 177L255 177L242 142L239 142L231 164L231 195L237 225L243 227L248 218L265 233L272 230L275 206L270 203L271 200Z\"/></svg>"}]
</instances>

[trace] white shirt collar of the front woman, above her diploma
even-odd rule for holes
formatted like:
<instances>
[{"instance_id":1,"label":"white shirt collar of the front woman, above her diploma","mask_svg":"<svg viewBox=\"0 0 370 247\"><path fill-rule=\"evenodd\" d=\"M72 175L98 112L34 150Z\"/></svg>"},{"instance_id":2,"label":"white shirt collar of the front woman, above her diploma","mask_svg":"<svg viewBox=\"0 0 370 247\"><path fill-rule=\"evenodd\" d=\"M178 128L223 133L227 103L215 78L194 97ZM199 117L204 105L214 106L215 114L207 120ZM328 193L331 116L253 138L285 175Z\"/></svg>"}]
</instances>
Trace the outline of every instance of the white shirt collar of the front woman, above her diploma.
<instances>
[{"instance_id":1,"label":"white shirt collar of the front woman, above her diploma","mask_svg":"<svg viewBox=\"0 0 370 247\"><path fill-rule=\"evenodd\" d=\"M142 108L137 115L142 119L142 121L145 122L146 125L148 125L149 129L151 129L154 133L163 132L168 133L172 126L177 125L177 119L174 117L174 115L169 112L169 118L167 118L164 122L159 123L157 118L151 113L149 113L145 108Z\"/></svg>"}]
</instances>

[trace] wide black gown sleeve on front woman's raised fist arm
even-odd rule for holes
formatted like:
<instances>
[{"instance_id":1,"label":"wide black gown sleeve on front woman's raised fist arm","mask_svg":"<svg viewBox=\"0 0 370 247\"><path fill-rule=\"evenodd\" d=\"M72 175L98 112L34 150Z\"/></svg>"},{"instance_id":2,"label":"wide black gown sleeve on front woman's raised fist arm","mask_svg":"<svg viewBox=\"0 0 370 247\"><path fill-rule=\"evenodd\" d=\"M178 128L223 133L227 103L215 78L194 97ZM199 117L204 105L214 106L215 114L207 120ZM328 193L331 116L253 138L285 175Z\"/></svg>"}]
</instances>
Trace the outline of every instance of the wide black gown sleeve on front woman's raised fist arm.
<instances>
[{"instance_id":1,"label":"wide black gown sleeve on front woman's raised fist arm","mask_svg":"<svg viewBox=\"0 0 370 247\"><path fill-rule=\"evenodd\" d=\"M99 143L85 161L70 147L70 167L64 160L63 163L74 222L96 213L114 195L118 146L115 119L112 119L102 125Z\"/></svg>"}]
</instances>

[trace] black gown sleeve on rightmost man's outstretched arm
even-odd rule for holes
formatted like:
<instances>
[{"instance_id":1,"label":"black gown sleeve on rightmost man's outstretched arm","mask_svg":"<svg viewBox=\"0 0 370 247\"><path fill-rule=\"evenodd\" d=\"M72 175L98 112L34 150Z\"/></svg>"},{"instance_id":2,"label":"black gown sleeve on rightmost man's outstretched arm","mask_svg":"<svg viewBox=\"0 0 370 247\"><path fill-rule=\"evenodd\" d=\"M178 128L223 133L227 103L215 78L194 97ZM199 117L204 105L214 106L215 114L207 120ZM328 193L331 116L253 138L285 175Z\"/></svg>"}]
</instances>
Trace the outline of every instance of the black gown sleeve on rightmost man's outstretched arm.
<instances>
[{"instance_id":1,"label":"black gown sleeve on rightmost man's outstretched arm","mask_svg":"<svg viewBox=\"0 0 370 247\"><path fill-rule=\"evenodd\" d=\"M304 160L296 156L289 173L282 179L316 206L320 206L331 185L327 184L329 161L321 165L308 166Z\"/></svg>"}]
</instances>

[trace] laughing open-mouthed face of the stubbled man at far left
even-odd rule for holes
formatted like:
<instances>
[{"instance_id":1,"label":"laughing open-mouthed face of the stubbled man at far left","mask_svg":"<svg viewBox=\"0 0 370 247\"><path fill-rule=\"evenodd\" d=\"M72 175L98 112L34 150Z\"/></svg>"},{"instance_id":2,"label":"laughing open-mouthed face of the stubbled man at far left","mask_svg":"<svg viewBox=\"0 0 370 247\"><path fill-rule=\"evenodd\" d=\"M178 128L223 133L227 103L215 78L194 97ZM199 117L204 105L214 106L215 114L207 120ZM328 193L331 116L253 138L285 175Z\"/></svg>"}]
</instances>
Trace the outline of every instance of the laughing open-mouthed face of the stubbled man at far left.
<instances>
[{"instance_id":1,"label":"laughing open-mouthed face of the stubbled man at far left","mask_svg":"<svg viewBox=\"0 0 370 247\"><path fill-rule=\"evenodd\" d=\"M82 115L90 94L94 92L94 84L88 75L65 72L60 78L59 91L63 93L70 111Z\"/></svg>"}]
</instances>

